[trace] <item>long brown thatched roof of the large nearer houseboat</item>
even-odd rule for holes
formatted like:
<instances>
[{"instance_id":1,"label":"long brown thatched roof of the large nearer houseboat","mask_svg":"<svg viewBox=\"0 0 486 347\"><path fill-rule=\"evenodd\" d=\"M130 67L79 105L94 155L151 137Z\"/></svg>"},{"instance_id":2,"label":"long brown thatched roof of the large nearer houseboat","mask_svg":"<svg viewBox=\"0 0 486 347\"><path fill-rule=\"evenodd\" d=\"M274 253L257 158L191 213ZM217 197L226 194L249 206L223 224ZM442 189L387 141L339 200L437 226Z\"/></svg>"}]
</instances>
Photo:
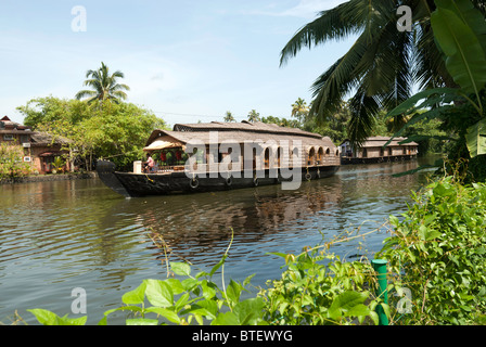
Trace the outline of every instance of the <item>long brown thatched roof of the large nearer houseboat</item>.
<instances>
[{"instance_id":1,"label":"long brown thatched roof of the large nearer houseboat","mask_svg":"<svg viewBox=\"0 0 486 347\"><path fill-rule=\"evenodd\" d=\"M217 139L216 139L217 137ZM273 140L279 143L282 140L302 141L307 146L323 146L334 149L335 145L330 138L321 134L303 131L295 128L284 128L278 125L264 123L206 123L191 125L175 125L174 130L154 130L146 141L145 151L159 150L174 146L172 143L186 145L189 142L209 143L244 143L245 141L266 142ZM158 141L157 143L155 143ZM167 146L165 146L167 145Z\"/></svg>"}]
</instances>

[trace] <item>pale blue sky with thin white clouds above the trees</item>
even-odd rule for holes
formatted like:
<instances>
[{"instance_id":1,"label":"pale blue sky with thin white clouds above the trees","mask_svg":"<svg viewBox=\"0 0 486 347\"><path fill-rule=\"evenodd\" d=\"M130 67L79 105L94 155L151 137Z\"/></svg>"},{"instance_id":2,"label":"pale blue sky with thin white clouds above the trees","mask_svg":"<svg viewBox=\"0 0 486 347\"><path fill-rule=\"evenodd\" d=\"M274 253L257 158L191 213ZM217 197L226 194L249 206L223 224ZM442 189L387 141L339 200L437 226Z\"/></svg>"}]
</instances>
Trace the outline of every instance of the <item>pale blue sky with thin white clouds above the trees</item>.
<instances>
[{"instance_id":1,"label":"pale blue sky with thin white clouds above the trees","mask_svg":"<svg viewBox=\"0 0 486 347\"><path fill-rule=\"evenodd\" d=\"M318 12L345 0L42 0L0 2L0 117L43 97L73 99L88 69L120 70L127 102L169 126L291 117L314 80L351 46L280 52ZM80 8L79 8L80 7ZM81 9L79 12L77 9Z\"/></svg>"}]
</instances>

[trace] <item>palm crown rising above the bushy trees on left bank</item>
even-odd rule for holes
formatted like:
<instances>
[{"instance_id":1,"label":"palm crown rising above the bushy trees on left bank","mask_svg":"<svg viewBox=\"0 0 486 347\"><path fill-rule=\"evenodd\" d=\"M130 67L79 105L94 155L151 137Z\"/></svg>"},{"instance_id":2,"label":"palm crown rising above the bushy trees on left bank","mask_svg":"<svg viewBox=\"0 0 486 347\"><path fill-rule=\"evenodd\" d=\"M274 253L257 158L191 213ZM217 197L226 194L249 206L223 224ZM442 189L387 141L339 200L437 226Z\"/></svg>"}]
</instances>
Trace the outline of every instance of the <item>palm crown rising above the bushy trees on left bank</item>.
<instances>
[{"instance_id":1,"label":"palm crown rising above the bushy trees on left bank","mask_svg":"<svg viewBox=\"0 0 486 347\"><path fill-rule=\"evenodd\" d=\"M88 103L98 100L103 103L105 100L113 100L118 103L119 100L127 99L124 90L130 90L127 85L117 83L118 78L124 78L125 75L120 70L116 70L110 75L108 67L101 62L99 69L90 69L86 73L85 86L91 87L93 90L81 90L76 94L76 99L80 100L88 97Z\"/></svg>"}]
</instances>

